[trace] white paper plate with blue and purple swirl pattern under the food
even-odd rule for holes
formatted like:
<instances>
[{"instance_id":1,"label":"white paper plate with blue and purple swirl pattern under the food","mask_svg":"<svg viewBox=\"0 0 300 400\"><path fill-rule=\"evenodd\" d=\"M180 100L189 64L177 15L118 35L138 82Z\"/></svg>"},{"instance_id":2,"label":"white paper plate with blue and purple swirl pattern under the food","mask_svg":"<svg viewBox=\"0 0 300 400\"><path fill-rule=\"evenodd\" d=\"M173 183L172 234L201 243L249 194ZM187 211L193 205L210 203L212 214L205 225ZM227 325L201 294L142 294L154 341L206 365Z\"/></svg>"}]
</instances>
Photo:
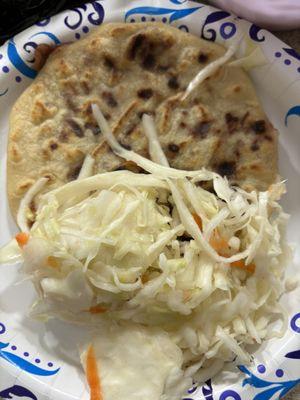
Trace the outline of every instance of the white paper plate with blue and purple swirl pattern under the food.
<instances>
[{"instance_id":1,"label":"white paper plate with blue and purple swirl pattern under the food","mask_svg":"<svg viewBox=\"0 0 300 400\"><path fill-rule=\"evenodd\" d=\"M295 275L300 262L300 55L269 32L225 11L187 0L95 1L32 26L0 48L0 244L16 232L6 200L5 158L8 115L12 104L36 76L34 50L40 43L76 41L104 22L162 21L207 40L224 43L243 24L246 35L261 46L268 63L251 72L263 106L280 132L280 173L288 179L284 207L291 214L288 239L295 245ZM18 268L1 267L0 398L88 399L77 344L85 332L52 321L30 320L35 297L29 282L15 285ZM282 339L263 343L251 367L228 366L227 372L194 385L188 399L268 400L283 397L300 383L300 290L281 299L289 324ZM142 400L142 399L141 399ZM149 400L149 399L144 399Z\"/></svg>"}]
</instances>

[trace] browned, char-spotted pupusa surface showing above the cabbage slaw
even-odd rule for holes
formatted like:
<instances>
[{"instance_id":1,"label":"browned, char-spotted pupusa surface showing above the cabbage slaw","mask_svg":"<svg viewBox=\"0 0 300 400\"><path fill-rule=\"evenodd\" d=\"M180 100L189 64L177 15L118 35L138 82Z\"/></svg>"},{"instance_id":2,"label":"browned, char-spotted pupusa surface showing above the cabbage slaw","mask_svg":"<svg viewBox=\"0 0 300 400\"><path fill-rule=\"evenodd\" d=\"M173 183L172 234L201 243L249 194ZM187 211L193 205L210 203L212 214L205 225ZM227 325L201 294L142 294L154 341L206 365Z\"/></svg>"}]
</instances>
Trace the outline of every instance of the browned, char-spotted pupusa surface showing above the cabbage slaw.
<instances>
[{"instance_id":1,"label":"browned, char-spotted pupusa surface showing above the cabbage slaw","mask_svg":"<svg viewBox=\"0 0 300 400\"><path fill-rule=\"evenodd\" d=\"M148 157L141 116L149 113L171 166L207 167L246 189L267 189L277 175L277 134L246 73L222 67L180 100L197 72L222 54L215 43L159 23L107 24L55 49L11 113L13 214L38 177L49 177L45 190L76 179L87 153L96 159L94 173L139 171L110 151L92 103L127 149Z\"/></svg>"}]
</instances>

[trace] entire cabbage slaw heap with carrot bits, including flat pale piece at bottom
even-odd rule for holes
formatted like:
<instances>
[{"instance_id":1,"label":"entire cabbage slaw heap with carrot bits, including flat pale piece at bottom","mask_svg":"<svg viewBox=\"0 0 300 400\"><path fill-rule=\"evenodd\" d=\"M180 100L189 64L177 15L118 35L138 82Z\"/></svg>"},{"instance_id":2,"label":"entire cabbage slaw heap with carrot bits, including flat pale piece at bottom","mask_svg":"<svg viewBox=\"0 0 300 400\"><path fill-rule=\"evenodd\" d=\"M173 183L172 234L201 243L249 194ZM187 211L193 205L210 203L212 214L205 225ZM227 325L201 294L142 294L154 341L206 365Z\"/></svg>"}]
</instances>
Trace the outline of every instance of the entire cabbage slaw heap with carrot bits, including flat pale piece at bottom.
<instances>
[{"instance_id":1,"label":"entire cabbage slaw heap with carrot bits, including flat pale piece at bottom","mask_svg":"<svg viewBox=\"0 0 300 400\"><path fill-rule=\"evenodd\" d=\"M92 111L111 150L147 174L106 172L43 194L0 260L23 260L39 293L32 316L95 327L82 351L91 398L179 399L286 329L284 184L247 192L206 169L170 168L145 115L150 161Z\"/></svg>"}]
</instances>

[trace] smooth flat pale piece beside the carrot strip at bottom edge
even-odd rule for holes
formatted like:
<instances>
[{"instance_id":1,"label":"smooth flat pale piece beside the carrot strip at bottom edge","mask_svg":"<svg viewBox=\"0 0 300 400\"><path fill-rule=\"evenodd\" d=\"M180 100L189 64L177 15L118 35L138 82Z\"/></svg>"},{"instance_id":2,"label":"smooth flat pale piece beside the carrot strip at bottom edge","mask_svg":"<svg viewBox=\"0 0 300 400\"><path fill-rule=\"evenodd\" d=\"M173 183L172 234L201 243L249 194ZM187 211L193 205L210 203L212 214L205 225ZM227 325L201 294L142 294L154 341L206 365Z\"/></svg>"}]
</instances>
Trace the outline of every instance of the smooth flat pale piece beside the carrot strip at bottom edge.
<instances>
[{"instance_id":1,"label":"smooth flat pale piece beside the carrot strip at bottom edge","mask_svg":"<svg viewBox=\"0 0 300 400\"><path fill-rule=\"evenodd\" d=\"M183 377L181 350L161 330L111 326L91 346L103 400L177 400L192 384ZM81 354L85 370L87 354Z\"/></svg>"}]
</instances>

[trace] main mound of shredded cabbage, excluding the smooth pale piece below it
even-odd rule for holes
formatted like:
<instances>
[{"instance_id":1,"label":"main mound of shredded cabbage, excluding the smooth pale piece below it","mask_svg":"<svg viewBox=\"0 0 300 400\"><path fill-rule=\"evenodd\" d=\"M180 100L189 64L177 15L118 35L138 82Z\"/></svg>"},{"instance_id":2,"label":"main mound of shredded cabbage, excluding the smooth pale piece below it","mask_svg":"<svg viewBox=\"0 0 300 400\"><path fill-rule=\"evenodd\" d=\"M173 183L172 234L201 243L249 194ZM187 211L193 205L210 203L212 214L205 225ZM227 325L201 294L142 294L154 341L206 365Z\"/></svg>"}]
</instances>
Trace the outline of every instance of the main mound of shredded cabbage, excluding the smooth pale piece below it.
<instances>
[{"instance_id":1,"label":"main mound of shredded cabbage, excluding the smooth pale piece below it","mask_svg":"<svg viewBox=\"0 0 300 400\"><path fill-rule=\"evenodd\" d=\"M282 315L286 216L268 192L249 196L217 175L213 183L216 194L188 177L122 171L43 195L21 250L23 270L40 288L33 314L163 327L176 334L187 373L199 377L211 371L211 359L249 362L247 344L280 334L269 332L268 321ZM224 252L210 241L216 231L228 243ZM242 258L241 268L233 266ZM86 310L95 304L106 312L91 316Z\"/></svg>"}]
</instances>

